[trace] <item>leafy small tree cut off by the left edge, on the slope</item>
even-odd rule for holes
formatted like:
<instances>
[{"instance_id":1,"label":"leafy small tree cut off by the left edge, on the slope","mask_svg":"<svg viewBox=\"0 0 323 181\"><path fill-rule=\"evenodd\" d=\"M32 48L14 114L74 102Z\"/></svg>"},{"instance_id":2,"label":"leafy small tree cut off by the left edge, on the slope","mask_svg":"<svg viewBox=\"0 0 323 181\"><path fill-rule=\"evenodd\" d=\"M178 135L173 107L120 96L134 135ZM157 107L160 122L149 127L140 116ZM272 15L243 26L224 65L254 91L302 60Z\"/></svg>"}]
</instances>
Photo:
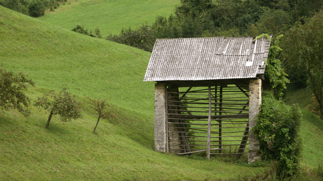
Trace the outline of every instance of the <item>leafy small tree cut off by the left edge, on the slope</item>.
<instances>
[{"instance_id":1,"label":"leafy small tree cut off by the left edge, on the slope","mask_svg":"<svg viewBox=\"0 0 323 181\"><path fill-rule=\"evenodd\" d=\"M28 84L35 86L35 83L27 79L23 72L15 75L12 71L0 69L0 107L2 110L16 109L24 116L28 116L30 99L23 93L27 90Z\"/></svg>"}]
</instances>

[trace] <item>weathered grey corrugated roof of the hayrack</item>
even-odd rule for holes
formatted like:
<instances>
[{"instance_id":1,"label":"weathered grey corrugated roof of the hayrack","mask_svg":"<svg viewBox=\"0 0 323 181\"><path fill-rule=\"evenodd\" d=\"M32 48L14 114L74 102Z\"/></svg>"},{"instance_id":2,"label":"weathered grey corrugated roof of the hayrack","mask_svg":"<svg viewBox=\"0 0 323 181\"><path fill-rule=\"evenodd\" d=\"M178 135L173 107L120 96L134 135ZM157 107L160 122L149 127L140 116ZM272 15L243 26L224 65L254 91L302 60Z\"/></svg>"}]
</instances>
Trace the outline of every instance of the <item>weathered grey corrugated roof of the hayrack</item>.
<instances>
[{"instance_id":1,"label":"weathered grey corrugated roof of the hayrack","mask_svg":"<svg viewBox=\"0 0 323 181\"><path fill-rule=\"evenodd\" d=\"M158 39L144 81L254 78L264 73L270 41L253 39Z\"/></svg>"}]
</instances>

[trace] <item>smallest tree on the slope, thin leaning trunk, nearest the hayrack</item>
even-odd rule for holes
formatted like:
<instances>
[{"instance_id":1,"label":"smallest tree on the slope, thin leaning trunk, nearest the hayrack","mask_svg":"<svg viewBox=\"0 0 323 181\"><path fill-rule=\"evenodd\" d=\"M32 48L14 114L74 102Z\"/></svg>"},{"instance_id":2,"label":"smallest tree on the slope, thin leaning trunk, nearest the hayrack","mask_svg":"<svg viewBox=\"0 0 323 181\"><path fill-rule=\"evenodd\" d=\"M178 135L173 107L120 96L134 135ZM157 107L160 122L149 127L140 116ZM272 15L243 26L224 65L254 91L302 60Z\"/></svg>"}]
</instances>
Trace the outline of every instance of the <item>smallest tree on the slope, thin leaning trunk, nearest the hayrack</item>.
<instances>
[{"instance_id":1,"label":"smallest tree on the slope, thin leaning trunk, nearest the hayrack","mask_svg":"<svg viewBox=\"0 0 323 181\"><path fill-rule=\"evenodd\" d=\"M89 99L92 103L90 107L98 113L96 125L93 130L93 133L94 133L96 130L97 124L99 124L100 118L106 119L110 116L111 113L107 110L107 107L110 107L110 104L107 104L105 100L100 100L100 99L93 100L91 98Z\"/></svg>"}]
</instances>

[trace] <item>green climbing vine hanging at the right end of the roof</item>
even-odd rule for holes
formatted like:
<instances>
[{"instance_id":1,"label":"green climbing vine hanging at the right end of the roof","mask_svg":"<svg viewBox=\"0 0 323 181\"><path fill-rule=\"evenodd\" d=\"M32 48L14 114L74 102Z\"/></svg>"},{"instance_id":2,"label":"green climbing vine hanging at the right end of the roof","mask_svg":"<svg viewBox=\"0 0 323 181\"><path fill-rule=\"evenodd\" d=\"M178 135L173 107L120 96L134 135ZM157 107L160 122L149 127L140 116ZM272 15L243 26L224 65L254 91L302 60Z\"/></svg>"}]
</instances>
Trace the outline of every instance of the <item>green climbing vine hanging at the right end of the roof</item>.
<instances>
[{"instance_id":1,"label":"green climbing vine hanging at the right end of the roof","mask_svg":"<svg viewBox=\"0 0 323 181\"><path fill-rule=\"evenodd\" d=\"M267 39L270 39L268 34L259 35L256 39L259 39L263 36L266 36ZM289 83L289 80L286 78L287 74L282 68L280 60L276 58L278 51L281 51L279 47L279 39L282 35L279 35L275 41L274 38L271 38L271 46L269 47L268 59L266 62L266 71L265 77L267 77L271 83L269 88L274 89L275 95L281 99L283 96L283 90L286 89L286 84Z\"/></svg>"}]
</instances>

